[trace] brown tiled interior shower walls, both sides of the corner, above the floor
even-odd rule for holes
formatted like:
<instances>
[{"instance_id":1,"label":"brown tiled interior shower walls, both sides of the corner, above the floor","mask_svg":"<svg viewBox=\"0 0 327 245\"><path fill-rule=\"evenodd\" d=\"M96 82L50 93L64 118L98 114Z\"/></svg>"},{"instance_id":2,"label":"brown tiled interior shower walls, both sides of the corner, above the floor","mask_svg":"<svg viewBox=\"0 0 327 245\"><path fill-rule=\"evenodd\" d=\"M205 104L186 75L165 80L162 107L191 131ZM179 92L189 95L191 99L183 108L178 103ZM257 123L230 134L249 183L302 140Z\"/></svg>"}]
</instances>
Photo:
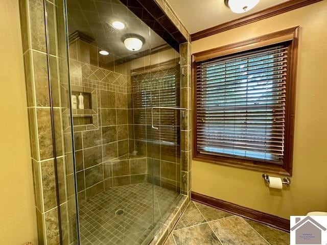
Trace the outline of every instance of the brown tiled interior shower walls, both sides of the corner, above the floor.
<instances>
[{"instance_id":1,"label":"brown tiled interior shower walls, both sides of the corner, above the floor","mask_svg":"<svg viewBox=\"0 0 327 245\"><path fill-rule=\"evenodd\" d=\"M115 65L98 51L82 40L69 45L72 93L92 100L91 108L73 110L79 198L146 181L179 192L179 112L156 111L158 131L150 114L152 106L179 107L179 54L169 48L131 70L139 60ZM75 124L89 113L92 124Z\"/></svg>"}]
</instances>

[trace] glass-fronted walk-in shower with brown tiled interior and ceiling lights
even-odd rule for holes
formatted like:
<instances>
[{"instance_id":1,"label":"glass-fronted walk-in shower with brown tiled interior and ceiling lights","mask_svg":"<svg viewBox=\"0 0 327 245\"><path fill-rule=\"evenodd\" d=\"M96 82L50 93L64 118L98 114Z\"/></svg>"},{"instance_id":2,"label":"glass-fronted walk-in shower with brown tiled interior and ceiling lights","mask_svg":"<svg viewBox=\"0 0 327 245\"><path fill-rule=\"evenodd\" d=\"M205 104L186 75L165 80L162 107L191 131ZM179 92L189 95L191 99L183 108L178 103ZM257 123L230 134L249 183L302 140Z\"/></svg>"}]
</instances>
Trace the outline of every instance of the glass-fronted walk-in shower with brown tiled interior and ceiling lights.
<instances>
[{"instance_id":1,"label":"glass-fronted walk-in shower with brown tiled interior and ceiling lights","mask_svg":"<svg viewBox=\"0 0 327 245\"><path fill-rule=\"evenodd\" d=\"M180 54L118 0L60 2L44 3L62 243L150 244L185 198Z\"/></svg>"}]
</instances>

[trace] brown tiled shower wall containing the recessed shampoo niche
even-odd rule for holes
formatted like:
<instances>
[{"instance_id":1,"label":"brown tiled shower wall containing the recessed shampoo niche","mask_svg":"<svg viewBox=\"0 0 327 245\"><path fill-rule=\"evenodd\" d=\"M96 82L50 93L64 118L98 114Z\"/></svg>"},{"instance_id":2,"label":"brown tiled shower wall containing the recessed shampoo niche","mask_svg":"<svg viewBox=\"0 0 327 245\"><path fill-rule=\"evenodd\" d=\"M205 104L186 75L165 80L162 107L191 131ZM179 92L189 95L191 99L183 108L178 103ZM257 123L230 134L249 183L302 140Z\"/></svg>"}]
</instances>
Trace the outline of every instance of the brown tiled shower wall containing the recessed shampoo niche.
<instances>
[{"instance_id":1,"label":"brown tiled shower wall containing the recessed shampoo niche","mask_svg":"<svg viewBox=\"0 0 327 245\"><path fill-rule=\"evenodd\" d=\"M80 39L69 44L72 93L91 100L85 101L90 108L73 110L79 200L112 186L145 182L147 174L147 159L129 155L134 129L126 64L115 65L112 55L99 50ZM75 124L90 113L92 122Z\"/></svg>"}]
</instances>

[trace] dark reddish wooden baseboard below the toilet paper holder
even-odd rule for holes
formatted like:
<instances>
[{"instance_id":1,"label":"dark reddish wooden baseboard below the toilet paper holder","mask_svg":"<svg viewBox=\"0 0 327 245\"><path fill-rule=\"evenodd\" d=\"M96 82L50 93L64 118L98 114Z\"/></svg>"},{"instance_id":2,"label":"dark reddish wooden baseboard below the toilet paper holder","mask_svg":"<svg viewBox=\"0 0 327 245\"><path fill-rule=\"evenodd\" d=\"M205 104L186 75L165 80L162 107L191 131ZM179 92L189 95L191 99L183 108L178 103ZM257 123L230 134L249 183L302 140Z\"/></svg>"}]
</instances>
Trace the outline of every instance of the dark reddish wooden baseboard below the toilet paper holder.
<instances>
[{"instance_id":1,"label":"dark reddish wooden baseboard below the toilet paper holder","mask_svg":"<svg viewBox=\"0 0 327 245\"><path fill-rule=\"evenodd\" d=\"M240 206L237 204L233 204L233 203L222 201L222 200L219 200L216 198L208 197L207 195L203 195L203 194L196 193L193 191L191 192L191 199L196 202L199 202L199 203L202 203L202 204L214 207L214 208L218 208L218 209L221 209L221 210L229 212L229 213L237 214L242 217L252 219L256 222L260 222L262 224L271 226L278 230L290 232L290 220L288 220L286 218L281 218L281 217L271 215L268 213L256 211L251 208L246 208L246 207L243 207L243 206Z\"/></svg>"}]
</instances>

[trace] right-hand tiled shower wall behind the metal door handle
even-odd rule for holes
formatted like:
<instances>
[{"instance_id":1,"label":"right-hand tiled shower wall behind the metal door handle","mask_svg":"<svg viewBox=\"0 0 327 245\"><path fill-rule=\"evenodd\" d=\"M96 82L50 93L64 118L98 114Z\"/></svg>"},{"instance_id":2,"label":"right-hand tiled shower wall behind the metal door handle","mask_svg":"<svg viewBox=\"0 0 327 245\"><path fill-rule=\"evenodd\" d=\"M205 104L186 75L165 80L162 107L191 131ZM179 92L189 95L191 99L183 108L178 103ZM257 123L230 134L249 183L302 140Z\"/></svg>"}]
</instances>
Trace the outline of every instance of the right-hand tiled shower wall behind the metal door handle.
<instances>
[{"instance_id":1,"label":"right-hand tiled shower wall behind the metal door handle","mask_svg":"<svg viewBox=\"0 0 327 245\"><path fill-rule=\"evenodd\" d=\"M155 109L158 130L151 128L151 107L179 107L179 54L171 48L158 57L158 63L131 74L135 151L148 157L148 182L179 192L180 112Z\"/></svg>"}]
</instances>

